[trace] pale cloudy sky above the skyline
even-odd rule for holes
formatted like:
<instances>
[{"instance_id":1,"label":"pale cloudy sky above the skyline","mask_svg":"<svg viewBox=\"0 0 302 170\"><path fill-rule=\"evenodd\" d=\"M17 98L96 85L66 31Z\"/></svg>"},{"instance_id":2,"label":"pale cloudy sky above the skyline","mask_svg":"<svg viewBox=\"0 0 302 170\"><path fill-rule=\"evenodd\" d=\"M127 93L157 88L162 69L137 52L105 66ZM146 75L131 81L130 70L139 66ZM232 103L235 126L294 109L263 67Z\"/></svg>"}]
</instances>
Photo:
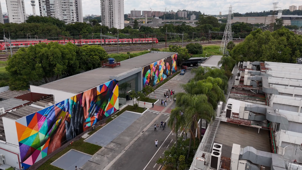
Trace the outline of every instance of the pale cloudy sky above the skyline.
<instances>
[{"instance_id":1,"label":"pale cloudy sky above the skyline","mask_svg":"<svg viewBox=\"0 0 302 170\"><path fill-rule=\"evenodd\" d=\"M2 12L7 12L6 1L0 0ZM233 12L246 13L246 12L260 12L272 10L272 3L278 1L272 0L152 0L145 1L140 0L124 0L124 13L130 13L130 10L140 11L177 11L178 9L201 11L208 15L218 15L221 11L222 15L228 14L228 7L233 6ZM24 0L25 12L32 14L31 1ZM278 9L288 9L290 5L302 5L301 0L286 0L278 3ZM82 0L83 16L87 14L101 15L100 0ZM36 12L39 14L39 2L36 0Z\"/></svg>"}]
</instances>

